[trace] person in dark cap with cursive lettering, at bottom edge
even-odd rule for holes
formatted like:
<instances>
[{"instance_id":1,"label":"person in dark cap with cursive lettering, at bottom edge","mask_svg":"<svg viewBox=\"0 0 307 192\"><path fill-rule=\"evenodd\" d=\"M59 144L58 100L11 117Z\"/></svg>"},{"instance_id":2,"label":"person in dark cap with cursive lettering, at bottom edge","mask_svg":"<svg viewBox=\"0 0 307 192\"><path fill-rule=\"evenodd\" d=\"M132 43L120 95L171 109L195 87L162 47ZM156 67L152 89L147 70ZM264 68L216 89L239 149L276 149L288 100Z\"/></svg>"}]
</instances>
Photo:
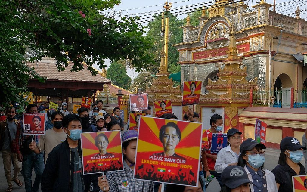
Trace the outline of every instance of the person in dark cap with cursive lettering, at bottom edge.
<instances>
[{"instance_id":1,"label":"person in dark cap with cursive lettering, at bottom edge","mask_svg":"<svg viewBox=\"0 0 307 192\"><path fill-rule=\"evenodd\" d=\"M251 192L251 184L254 184L248 179L245 170L237 165L226 167L221 179L223 186L220 192Z\"/></svg>"}]
</instances>

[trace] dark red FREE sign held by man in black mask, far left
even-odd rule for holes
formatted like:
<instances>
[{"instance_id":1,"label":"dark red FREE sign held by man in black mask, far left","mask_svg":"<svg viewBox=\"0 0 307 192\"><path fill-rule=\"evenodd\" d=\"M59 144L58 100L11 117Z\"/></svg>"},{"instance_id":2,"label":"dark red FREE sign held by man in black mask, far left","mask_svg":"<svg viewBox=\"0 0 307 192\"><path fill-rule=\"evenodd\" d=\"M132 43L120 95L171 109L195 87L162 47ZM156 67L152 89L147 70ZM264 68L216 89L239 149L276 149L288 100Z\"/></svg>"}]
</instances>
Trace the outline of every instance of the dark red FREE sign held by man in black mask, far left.
<instances>
[{"instance_id":1,"label":"dark red FREE sign held by man in black mask, far left","mask_svg":"<svg viewBox=\"0 0 307 192\"><path fill-rule=\"evenodd\" d=\"M23 116L23 135L45 135L46 113L25 113Z\"/></svg>"}]
</instances>

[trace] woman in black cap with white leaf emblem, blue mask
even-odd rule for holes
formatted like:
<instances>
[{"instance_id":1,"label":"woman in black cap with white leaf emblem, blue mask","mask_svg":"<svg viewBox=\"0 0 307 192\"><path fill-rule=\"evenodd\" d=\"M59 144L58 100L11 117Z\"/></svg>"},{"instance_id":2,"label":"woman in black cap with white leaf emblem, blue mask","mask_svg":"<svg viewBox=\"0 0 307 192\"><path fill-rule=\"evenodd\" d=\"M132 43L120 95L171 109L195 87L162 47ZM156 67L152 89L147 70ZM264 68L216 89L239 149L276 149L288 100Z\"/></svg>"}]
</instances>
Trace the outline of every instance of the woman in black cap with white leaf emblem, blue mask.
<instances>
[{"instance_id":1,"label":"woman in black cap with white leaf emblem, blue mask","mask_svg":"<svg viewBox=\"0 0 307 192\"><path fill-rule=\"evenodd\" d=\"M294 137L285 137L280 142L278 165L272 170L278 192L293 192L292 176L305 175L305 167L300 163L306 147Z\"/></svg>"}]
</instances>

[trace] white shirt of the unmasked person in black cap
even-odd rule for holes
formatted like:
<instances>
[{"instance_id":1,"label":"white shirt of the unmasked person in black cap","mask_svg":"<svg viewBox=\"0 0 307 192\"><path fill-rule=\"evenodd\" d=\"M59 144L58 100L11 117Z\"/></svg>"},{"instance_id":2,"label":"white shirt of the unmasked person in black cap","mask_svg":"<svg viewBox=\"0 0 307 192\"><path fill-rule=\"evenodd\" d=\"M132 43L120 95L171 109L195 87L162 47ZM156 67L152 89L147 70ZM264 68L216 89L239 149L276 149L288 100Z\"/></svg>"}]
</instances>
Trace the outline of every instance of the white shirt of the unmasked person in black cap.
<instances>
[{"instance_id":1,"label":"white shirt of the unmasked person in black cap","mask_svg":"<svg viewBox=\"0 0 307 192\"><path fill-rule=\"evenodd\" d=\"M240 155L241 153L239 153ZM239 155L231 150L230 145L221 149L217 154L214 169L217 173L222 173L228 164L238 162Z\"/></svg>"}]
</instances>

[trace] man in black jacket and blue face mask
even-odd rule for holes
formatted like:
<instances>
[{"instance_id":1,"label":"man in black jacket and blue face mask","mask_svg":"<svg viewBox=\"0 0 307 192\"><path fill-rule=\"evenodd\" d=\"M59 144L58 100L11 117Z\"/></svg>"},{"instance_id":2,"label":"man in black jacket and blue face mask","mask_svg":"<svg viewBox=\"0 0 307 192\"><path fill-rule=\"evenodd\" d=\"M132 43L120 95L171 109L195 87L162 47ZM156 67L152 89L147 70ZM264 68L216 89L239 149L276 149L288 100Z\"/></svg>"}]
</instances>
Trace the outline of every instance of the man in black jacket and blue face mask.
<instances>
[{"instance_id":1,"label":"man in black jacket and blue face mask","mask_svg":"<svg viewBox=\"0 0 307 192\"><path fill-rule=\"evenodd\" d=\"M75 114L64 116L63 128L67 139L49 153L41 179L42 192L84 192L82 154L79 141L81 119Z\"/></svg>"}]
</instances>

